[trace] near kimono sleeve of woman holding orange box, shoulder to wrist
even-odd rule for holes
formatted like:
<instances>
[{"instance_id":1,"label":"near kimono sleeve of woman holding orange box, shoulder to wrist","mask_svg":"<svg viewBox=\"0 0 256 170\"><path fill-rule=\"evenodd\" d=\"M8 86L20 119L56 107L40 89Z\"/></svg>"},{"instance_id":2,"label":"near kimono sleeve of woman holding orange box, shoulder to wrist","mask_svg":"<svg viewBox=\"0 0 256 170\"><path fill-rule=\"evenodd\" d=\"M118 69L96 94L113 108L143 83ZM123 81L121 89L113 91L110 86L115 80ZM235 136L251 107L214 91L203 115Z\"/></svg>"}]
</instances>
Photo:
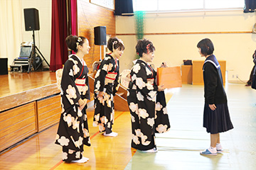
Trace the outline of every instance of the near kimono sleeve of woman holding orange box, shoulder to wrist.
<instances>
[{"instance_id":1,"label":"near kimono sleeve of woman holding orange box, shoulder to wrist","mask_svg":"<svg viewBox=\"0 0 256 170\"><path fill-rule=\"evenodd\" d=\"M137 86L137 90L150 98L154 98L158 87L147 82L146 67L142 64L135 64L132 72L132 82Z\"/></svg>"}]
</instances>

